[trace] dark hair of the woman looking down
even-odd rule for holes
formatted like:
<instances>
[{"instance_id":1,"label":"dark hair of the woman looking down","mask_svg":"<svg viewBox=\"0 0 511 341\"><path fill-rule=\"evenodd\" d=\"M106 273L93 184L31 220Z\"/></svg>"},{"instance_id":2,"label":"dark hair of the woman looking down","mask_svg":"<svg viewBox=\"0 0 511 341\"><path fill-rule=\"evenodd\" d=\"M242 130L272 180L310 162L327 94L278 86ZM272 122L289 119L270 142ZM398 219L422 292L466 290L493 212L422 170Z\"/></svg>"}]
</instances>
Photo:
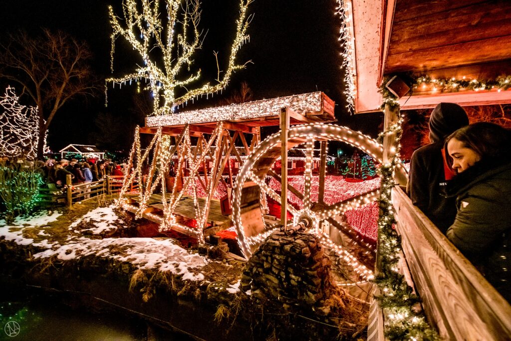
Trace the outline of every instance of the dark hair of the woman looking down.
<instances>
[{"instance_id":1,"label":"dark hair of the woman looking down","mask_svg":"<svg viewBox=\"0 0 511 341\"><path fill-rule=\"evenodd\" d=\"M447 144L452 139L460 141L464 147L475 151L481 160L486 160L509 155L511 132L495 123L472 123L456 130L446 138L444 145L446 152ZM446 156L448 156L447 153Z\"/></svg>"}]
</instances>

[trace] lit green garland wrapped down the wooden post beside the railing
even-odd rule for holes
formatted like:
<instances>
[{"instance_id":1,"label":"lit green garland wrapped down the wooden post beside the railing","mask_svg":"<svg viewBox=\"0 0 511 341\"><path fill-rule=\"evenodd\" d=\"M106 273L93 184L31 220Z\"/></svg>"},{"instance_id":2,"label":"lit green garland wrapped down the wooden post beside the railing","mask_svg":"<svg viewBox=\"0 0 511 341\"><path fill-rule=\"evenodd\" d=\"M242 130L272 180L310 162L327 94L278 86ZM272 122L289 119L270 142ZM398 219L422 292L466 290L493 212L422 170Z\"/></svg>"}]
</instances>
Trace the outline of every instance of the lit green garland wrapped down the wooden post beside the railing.
<instances>
[{"instance_id":1,"label":"lit green garland wrapped down the wooden post beside the railing","mask_svg":"<svg viewBox=\"0 0 511 341\"><path fill-rule=\"evenodd\" d=\"M384 82L383 84L386 84ZM384 86L380 93L384 99L384 105L388 104L392 109L399 109L398 99ZM385 133L396 135L396 154L392 160L383 164L379 169L381 178L380 216L378 218L378 257L379 272L375 282L380 289L381 295L377 297L385 313L385 336L390 340L410 339L439 340L440 337L432 328L420 307L420 298L412 292L412 288L400 274L398 262L401 253L401 238L398 236L394 225L394 207L391 200L394 183L394 170L400 162L399 141L402 133L402 119L393 124L387 131L380 134L383 138Z\"/></svg>"}]
</instances>

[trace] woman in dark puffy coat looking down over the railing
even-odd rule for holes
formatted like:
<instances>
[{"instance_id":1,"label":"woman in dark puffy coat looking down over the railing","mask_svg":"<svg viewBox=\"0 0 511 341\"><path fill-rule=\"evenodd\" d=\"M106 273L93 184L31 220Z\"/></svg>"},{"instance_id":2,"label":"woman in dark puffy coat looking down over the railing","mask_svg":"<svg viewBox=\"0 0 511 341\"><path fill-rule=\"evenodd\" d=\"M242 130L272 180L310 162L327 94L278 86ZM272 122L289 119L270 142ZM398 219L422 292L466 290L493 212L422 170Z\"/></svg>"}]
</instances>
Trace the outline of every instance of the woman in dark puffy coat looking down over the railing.
<instances>
[{"instance_id":1,"label":"woman in dark puffy coat looking down over the railing","mask_svg":"<svg viewBox=\"0 0 511 341\"><path fill-rule=\"evenodd\" d=\"M448 185L457 214L447 238L511 302L511 132L478 122L446 139L458 174Z\"/></svg>"}]
</instances>

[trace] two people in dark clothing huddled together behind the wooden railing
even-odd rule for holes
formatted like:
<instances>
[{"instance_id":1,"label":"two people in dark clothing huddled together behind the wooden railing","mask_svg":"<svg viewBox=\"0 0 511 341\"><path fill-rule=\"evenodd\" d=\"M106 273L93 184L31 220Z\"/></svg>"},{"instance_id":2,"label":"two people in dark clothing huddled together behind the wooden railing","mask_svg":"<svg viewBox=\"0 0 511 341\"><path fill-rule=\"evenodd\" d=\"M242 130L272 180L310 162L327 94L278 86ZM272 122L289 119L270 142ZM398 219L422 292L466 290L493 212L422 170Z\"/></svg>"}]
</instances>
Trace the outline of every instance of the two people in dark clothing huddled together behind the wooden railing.
<instances>
[{"instance_id":1,"label":"two people in dark clothing huddled together behind the wooden railing","mask_svg":"<svg viewBox=\"0 0 511 341\"><path fill-rule=\"evenodd\" d=\"M511 131L440 103L411 158L413 204L511 302Z\"/></svg>"}]
</instances>

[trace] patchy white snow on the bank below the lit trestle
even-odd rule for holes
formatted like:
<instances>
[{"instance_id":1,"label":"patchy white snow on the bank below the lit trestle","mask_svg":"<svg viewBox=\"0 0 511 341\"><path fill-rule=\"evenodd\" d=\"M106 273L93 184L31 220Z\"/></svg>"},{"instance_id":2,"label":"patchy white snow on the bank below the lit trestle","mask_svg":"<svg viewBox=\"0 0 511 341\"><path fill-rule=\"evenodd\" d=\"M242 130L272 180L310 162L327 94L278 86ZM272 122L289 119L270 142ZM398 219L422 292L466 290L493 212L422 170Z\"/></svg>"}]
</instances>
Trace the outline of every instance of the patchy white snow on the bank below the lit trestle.
<instances>
[{"instance_id":1,"label":"patchy white snow on the bank below the lit trestle","mask_svg":"<svg viewBox=\"0 0 511 341\"><path fill-rule=\"evenodd\" d=\"M34 242L32 238L23 236L26 228L44 226L56 220L61 214L53 213L48 216L46 213L37 213L31 218L16 219L14 224L6 225L0 221L0 238L14 241L18 245L30 245L45 248L44 251L34 254L35 258L48 258L57 256L58 259L66 261L84 256L96 255L107 257L122 262L130 262L141 269L158 269L160 271L171 271L173 274L182 275L184 280L201 281L204 275L199 269L208 263L208 260L197 254L190 254L186 249L174 244L171 239L153 238L104 238L89 239L82 236L70 236L66 240L49 241L44 239ZM75 230L80 222L89 222L96 228L87 229L95 234L116 228L114 222L121 222L121 219L113 212L113 206L97 208L83 215L69 226L69 230ZM28 224L29 226L23 226ZM83 232L81 230L75 232ZM39 232L38 235L50 237L46 233Z\"/></svg>"}]
</instances>

